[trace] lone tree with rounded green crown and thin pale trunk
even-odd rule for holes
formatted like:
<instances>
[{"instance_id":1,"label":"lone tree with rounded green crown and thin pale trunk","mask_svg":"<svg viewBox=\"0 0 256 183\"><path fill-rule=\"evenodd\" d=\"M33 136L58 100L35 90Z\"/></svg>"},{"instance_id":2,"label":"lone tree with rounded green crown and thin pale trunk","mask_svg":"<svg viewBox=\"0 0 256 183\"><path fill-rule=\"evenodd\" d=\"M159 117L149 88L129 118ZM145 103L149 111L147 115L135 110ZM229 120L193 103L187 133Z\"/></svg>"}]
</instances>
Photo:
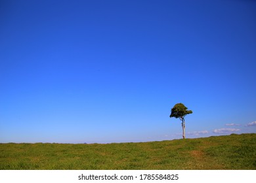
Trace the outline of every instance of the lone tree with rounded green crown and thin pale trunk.
<instances>
[{"instance_id":1,"label":"lone tree with rounded green crown and thin pale trunk","mask_svg":"<svg viewBox=\"0 0 256 183\"><path fill-rule=\"evenodd\" d=\"M186 114L192 114L192 110L187 110L188 108L185 107L182 103L177 103L172 109L171 109L171 115L170 118L175 117L175 118L180 118L182 121L181 126L182 126L182 137L185 139L185 119L184 117Z\"/></svg>"}]
</instances>

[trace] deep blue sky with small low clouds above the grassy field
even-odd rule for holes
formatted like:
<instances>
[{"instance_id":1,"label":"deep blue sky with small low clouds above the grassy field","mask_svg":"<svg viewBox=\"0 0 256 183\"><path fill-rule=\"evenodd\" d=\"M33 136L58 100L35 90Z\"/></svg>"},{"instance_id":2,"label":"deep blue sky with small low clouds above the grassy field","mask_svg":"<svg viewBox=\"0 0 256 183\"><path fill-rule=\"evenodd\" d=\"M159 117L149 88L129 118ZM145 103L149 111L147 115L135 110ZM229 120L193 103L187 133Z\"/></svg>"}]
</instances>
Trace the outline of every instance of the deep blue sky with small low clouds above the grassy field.
<instances>
[{"instance_id":1,"label":"deep blue sky with small low clouds above the grassy field","mask_svg":"<svg viewBox=\"0 0 256 183\"><path fill-rule=\"evenodd\" d=\"M0 142L256 133L255 1L0 1Z\"/></svg>"}]
</instances>

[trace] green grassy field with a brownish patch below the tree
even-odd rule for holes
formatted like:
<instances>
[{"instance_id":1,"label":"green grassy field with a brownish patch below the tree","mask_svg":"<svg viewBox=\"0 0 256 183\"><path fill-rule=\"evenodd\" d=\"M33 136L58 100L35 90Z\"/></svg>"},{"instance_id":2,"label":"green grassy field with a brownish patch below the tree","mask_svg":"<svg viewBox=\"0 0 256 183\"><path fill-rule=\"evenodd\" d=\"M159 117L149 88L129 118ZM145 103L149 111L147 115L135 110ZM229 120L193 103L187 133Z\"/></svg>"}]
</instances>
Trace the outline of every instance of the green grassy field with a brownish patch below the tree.
<instances>
[{"instance_id":1,"label":"green grassy field with a brownish patch below the tree","mask_svg":"<svg viewBox=\"0 0 256 183\"><path fill-rule=\"evenodd\" d=\"M256 133L161 142L0 144L0 169L256 169Z\"/></svg>"}]
</instances>

